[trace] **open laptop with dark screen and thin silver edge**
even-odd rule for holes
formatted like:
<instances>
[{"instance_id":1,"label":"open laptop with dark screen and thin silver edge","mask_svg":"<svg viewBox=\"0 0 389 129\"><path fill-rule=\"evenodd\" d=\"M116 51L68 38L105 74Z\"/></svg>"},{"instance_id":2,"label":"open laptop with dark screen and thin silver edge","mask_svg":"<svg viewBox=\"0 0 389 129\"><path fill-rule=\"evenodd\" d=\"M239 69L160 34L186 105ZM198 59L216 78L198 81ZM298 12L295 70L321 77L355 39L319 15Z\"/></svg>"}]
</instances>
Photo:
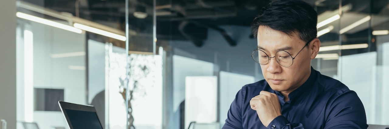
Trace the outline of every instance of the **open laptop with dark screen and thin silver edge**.
<instances>
[{"instance_id":1,"label":"open laptop with dark screen and thin silver edge","mask_svg":"<svg viewBox=\"0 0 389 129\"><path fill-rule=\"evenodd\" d=\"M95 107L58 101L70 129L104 129Z\"/></svg>"}]
</instances>

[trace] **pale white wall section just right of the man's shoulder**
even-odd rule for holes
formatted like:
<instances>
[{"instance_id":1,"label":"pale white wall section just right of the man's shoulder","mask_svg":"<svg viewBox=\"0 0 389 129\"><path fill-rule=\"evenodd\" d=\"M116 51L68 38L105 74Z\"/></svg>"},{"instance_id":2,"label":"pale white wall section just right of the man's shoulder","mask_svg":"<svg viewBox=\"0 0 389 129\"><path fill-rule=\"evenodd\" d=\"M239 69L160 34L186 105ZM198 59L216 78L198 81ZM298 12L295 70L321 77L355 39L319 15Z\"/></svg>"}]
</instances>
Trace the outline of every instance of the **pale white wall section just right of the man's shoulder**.
<instances>
[{"instance_id":1,"label":"pale white wall section just right of the man's shoulder","mask_svg":"<svg viewBox=\"0 0 389 129\"><path fill-rule=\"evenodd\" d=\"M357 93L366 111L368 124L380 124L375 120L376 113L376 63L377 52L342 56L341 82Z\"/></svg>"}]
</instances>

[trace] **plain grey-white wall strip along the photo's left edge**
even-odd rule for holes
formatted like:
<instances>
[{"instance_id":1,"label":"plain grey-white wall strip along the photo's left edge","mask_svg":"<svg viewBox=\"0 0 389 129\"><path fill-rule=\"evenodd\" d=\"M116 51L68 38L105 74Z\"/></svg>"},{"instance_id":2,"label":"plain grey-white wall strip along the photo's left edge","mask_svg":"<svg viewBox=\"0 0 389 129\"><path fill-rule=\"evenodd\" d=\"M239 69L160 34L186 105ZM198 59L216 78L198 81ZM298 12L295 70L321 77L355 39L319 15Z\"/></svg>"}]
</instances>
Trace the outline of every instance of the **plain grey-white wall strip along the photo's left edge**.
<instances>
[{"instance_id":1,"label":"plain grey-white wall strip along the photo's left edge","mask_svg":"<svg viewBox=\"0 0 389 129\"><path fill-rule=\"evenodd\" d=\"M16 0L1 0L0 13L0 119L16 129Z\"/></svg>"}]
</instances>

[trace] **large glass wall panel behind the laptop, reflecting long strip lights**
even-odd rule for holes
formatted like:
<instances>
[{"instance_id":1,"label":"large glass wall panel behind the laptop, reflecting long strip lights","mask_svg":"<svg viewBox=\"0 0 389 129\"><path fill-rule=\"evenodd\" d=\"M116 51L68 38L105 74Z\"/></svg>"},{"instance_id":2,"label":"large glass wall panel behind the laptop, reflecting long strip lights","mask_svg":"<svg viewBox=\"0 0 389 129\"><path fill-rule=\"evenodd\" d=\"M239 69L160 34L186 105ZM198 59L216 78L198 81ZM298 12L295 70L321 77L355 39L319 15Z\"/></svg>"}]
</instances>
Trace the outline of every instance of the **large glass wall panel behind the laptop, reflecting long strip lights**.
<instances>
[{"instance_id":1,"label":"large glass wall panel behind the laptop, reflecting long strip lights","mask_svg":"<svg viewBox=\"0 0 389 129\"><path fill-rule=\"evenodd\" d=\"M94 105L105 129L126 127L124 3L16 3L18 129L25 128L23 123L68 128L58 101Z\"/></svg>"}]
</instances>

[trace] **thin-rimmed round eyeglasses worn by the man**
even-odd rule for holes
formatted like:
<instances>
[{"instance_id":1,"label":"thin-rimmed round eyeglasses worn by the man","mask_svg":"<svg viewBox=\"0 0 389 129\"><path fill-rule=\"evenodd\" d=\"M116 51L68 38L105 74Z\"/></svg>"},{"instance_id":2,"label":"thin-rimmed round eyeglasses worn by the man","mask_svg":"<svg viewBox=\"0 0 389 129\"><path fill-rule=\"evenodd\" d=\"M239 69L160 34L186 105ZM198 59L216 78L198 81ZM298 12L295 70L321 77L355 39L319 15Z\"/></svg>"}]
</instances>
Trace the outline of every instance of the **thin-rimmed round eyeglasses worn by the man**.
<instances>
[{"instance_id":1,"label":"thin-rimmed round eyeglasses worn by the man","mask_svg":"<svg viewBox=\"0 0 389 129\"><path fill-rule=\"evenodd\" d=\"M312 40L314 40L314 39L315 38L313 38ZM310 43L312 40L308 41L305 44L305 46L307 46L308 43ZM305 46L300 50L300 52L305 48ZM292 55L289 52L282 50L282 51L278 51L277 53L275 53L274 57L269 57L269 55L267 55L262 50L256 49L256 50L252 51L251 57L252 57L252 59L254 59L255 62L257 62L258 64L261 64L261 65L266 65L270 62L270 59L275 58L275 60L281 66L290 67L293 64L294 58L296 58L300 52L298 52L296 54L296 56L292 57Z\"/></svg>"}]
</instances>

